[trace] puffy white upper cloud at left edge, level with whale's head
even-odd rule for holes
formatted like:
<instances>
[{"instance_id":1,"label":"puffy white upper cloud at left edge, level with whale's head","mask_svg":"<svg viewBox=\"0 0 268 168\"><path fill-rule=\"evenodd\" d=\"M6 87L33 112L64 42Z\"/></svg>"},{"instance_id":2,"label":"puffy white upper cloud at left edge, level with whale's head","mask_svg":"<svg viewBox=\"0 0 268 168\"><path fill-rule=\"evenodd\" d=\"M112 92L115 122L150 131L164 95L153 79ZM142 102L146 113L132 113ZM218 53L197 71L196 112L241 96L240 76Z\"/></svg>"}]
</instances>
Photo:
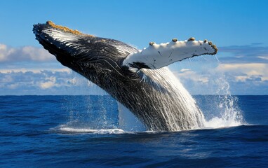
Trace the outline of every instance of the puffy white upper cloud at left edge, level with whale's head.
<instances>
[{"instance_id":1,"label":"puffy white upper cloud at left edge, level with whale's head","mask_svg":"<svg viewBox=\"0 0 268 168\"><path fill-rule=\"evenodd\" d=\"M0 43L0 62L53 62L55 57L43 48L25 46L21 48L8 47Z\"/></svg>"}]
</instances>

